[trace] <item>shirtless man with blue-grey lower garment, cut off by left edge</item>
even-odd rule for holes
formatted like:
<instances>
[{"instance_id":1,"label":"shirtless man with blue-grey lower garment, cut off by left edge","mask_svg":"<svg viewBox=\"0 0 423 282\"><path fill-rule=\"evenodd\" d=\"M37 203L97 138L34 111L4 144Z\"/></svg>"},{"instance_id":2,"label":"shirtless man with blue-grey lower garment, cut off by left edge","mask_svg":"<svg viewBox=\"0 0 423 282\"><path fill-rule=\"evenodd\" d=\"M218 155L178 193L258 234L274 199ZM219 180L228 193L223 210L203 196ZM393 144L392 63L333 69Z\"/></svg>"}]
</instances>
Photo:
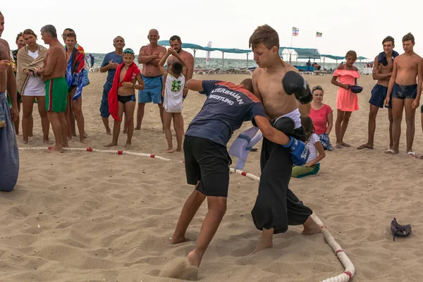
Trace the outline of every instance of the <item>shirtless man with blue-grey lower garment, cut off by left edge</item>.
<instances>
[{"instance_id":1,"label":"shirtless man with blue-grey lower garment, cut off by left edge","mask_svg":"<svg viewBox=\"0 0 423 282\"><path fill-rule=\"evenodd\" d=\"M4 30L4 16L0 12L0 37ZM19 174L19 152L13 121L18 119L18 99L16 98L16 78L11 66L11 49L4 39L0 39L0 190L15 188ZM6 90L11 97L9 109Z\"/></svg>"}]
</instances>

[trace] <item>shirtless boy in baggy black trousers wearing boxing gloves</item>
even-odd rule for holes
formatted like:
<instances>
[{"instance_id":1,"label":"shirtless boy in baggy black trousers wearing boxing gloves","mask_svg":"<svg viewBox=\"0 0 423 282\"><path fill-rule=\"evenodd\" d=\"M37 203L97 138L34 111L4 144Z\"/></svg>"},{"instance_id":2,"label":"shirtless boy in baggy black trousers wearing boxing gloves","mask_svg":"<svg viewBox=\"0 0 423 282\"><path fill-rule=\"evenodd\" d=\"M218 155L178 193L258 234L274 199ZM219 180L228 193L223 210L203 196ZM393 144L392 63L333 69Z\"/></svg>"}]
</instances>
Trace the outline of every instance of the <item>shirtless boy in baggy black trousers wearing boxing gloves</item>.
<instances>
[{"instance_id":1,"label":"shirtless boy in baggy black trousers wearing boxing gloves","mask_svg":"<svg viewBox=\"0 0 423 282\"><path fill-rule=\"evenodd\" d=\"M282 85L281 81L288 71L299 72L281 60L278 33L269 25L259 26L250 37L250 47L258 66L252 74L254 94L263 102L270 118L292 118L295 122L292 137L305 142L300 116L309 115L312 94L308 90L307 96L297 97L288 85ZM308 88L304 79L300 79L302 85ZM302 233L306 235L320 233L321 227L310 217L312 210L288 188L293 168L289 150L264 137L260 166L262 177L252 218L255 226L263 232L254 253L272 247L273 235L286 232L288 225L302 224Z\"/></svg>"}]
</instances>

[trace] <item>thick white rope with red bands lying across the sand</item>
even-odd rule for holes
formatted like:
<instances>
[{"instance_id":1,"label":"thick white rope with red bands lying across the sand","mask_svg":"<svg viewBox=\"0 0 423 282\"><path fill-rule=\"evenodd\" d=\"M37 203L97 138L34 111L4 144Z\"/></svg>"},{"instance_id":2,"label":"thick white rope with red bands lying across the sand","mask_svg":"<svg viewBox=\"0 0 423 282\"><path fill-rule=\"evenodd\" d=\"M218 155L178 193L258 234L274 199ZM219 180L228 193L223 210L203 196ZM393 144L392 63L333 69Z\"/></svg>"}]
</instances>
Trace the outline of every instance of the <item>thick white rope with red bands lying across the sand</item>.
<instances>
[{"instance_id":1,"label":"thick white rope with red bands lying across the sand","mask_svg":"<svg viewBox=\"0 0 423 282\"><path fill-rule=\"evenodd\" d=\"M47 147L24 147L19 148L20 150L35 150L35 151L46 151L50 148ZM120 151L120 150L99 150L99 149L92 149L87 148L63 148L66 151L87 151L87 152L100 152L100 153L108 153L108 154L128 154L130 156L135 157L144 157L144 158L151 158L151 159L159 159L161 161L172 161L171 159L166 159L164 157L156 156L154 154L142 154L142 153L136 153L136 152L127 152L127 151ZM178 161L180 163L183 163L183 161ZM258 176L255 176L254 174L247 173L245 171L240 171L238 169L230 168L230 173L239 174L240 176L247 176L247 178L250 178L252 180L259 181L260 178ZM314 222L316 222L319 226L324 226L323 222L319 219L319 217L316 214L312 214L312 219ZM351 278L353 278L355 273L355 267L353 262L351 262L350 258L345 254L345 252L342 250L341 246L336 243L336 240L333 238L331 233L329 232L328 228L324 227L322 232L324 240L326 240L326 243L331 247L335 255L338 257L338 259L341 261L343 266L345 267L345 271L342 274L339 274L338 276L333 276L331 278L327 278L324 281L321 282L347 282L350 281Z\"/></svg>"}]
</instances>

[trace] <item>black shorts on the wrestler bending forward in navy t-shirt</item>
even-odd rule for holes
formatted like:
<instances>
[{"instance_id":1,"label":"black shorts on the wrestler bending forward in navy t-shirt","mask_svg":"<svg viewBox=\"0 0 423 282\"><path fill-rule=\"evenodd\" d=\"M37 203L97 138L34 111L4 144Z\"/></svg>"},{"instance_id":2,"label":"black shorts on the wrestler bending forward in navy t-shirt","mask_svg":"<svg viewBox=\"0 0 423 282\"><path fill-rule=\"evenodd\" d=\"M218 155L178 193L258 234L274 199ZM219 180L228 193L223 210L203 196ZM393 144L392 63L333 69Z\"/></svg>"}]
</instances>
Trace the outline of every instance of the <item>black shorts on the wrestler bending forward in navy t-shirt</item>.
<instances>
[{"instance_id":1,"label":"black shorts on the wrestler bending forward in navy t-shirt","mask_svg":"<svg viewBox=\"0 0 423 282\"><path fill-rule=\"evenodd\" d=\"M183 142L187 182L206 196L228 197L229 166L226 146L212 140L185 135Z\"/></svg>"}]
</instances>

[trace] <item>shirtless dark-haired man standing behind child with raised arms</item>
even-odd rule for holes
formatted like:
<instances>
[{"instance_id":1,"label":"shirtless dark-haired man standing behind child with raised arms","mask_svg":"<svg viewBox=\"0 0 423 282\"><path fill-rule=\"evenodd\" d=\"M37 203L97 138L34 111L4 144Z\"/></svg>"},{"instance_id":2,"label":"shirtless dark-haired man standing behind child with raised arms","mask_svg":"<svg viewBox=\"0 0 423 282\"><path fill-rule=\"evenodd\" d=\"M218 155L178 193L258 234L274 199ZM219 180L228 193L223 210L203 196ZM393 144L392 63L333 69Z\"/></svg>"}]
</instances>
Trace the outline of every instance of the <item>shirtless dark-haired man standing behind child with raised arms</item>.
<instances>
[{"instance_id":1,"label":"shirtless dark-haired man standing behind child with raised arms","mask_svg":"<svg viewBox=\"0 0 423 282\"><path fill-rule=\"evenodd\" d=\"M188 53L187 51L182 49L182 42L180 41L180 37L178 37L178 35L173 35L171 37L171 39L169 39L169 44L171 44L171 48L173 48L173 50L176 50L176 52L179 54L180 58L183 59L183 61L185 61L185 64L187 65L187 72L185 75L185 81L188 81L192 78L192 74L194 74L194 57ZM170 56L167 63L168 63L168 68L171 66L171 64L174 61L178 61L178 59L175 58L175 56ZM183 87L183 100L185 100L185 98L188 95L188 88L186 85L184 85ZM183 101L182 100L182 101ZM180 113L180 128L182 130L182 135L184 134L184 130L183 130L183 116L182 113Z\"/></svg>"}]
</instances>

